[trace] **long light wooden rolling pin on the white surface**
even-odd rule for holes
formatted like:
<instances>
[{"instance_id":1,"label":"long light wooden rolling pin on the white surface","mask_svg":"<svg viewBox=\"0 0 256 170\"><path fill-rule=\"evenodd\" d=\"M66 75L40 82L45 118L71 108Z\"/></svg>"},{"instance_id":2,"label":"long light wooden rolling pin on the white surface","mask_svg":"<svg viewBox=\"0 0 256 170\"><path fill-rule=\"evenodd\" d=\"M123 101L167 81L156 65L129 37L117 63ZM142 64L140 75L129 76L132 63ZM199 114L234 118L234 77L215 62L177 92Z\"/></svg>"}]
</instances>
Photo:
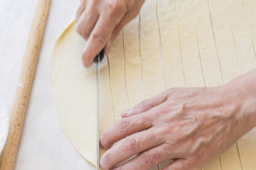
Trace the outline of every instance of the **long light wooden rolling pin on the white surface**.
<instances>
[{"instance_id":1,"label":"long light wooden rolling pin on the white surface","mask_svg":"<svg viewBox=\"0 0 256 170\"><path fill-rule=\"evenodd\" d=\"M50 2L51 0L37 0L36 11L19 74L19 83L12 104L9 134L0 156L0 170L14 169Z\"/></svg>"}]
</instances>

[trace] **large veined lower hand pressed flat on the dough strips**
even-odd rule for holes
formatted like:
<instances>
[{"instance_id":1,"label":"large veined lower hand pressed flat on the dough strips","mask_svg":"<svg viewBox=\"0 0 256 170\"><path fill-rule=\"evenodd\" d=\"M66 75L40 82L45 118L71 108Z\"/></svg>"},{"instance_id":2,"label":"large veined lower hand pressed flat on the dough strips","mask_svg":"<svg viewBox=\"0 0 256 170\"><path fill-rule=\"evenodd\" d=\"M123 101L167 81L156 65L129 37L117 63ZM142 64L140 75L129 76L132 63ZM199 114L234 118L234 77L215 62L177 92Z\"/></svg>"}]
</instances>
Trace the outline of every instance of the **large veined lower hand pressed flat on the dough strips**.
<instances>
[{"instance_id":1,"label":"large veined lower hand pressed flat on the dough strips","mask_svg":"<svg viewBox=\"0 0 256 170\"><path fill-rule=\"evenodd\" d=\"M256 125L256 76L248 77L220 87L172 88L123 112L101 135L105 149L124 138L104 153L101 168L135 154L114 170L147 170L168 159L174 162L164 170L202 168Z\"/></svg>"}]
</instances>

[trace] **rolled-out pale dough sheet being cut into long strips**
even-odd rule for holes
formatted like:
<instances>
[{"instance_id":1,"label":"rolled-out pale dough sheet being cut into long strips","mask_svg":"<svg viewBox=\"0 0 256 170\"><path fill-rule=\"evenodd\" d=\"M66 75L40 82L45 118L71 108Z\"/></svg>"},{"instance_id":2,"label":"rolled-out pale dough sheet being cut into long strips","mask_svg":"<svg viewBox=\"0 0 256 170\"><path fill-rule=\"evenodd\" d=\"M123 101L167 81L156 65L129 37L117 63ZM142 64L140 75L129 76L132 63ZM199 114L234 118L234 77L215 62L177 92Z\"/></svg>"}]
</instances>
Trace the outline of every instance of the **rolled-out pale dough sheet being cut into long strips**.
<instances>
[{"instance_id":1,"label":"rolled-out pale dough sheet being cut into long strips","mask_svg":"<svg viewBox=\"0 0 256 170\"><path fill-rule=\"evenodd\" d=\"M123 110L162 92L163 75L167 88L210 87L256 68L255 7L250 0L145 0L141 17L123 28L102 61L100 134ZM54 100L66 137L97 167L96 71L82 66L85 40L75 26L73 21L63 31L53 50ZM255 169L255 134L256 128L203 170Z\"/></svg>"}]
</instances>

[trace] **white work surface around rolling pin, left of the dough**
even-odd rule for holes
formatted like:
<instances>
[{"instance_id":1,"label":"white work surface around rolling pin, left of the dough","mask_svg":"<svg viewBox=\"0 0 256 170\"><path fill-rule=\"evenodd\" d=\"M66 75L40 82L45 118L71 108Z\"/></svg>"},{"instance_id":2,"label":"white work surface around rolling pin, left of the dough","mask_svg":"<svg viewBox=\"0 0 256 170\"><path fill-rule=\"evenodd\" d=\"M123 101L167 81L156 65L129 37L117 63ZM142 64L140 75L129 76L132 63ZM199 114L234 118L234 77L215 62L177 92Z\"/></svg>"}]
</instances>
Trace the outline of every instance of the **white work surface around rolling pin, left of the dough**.
<instances>
[{"instance_id":1,"label":"white work surface around rolling pin, left of the dough","mask_svg":"<svg viewBox=\"0 0 256 170\"><path fill-rule=\"evenodd\" d=\"M15 170L95 169L75 151L61 129L50 78L54 43L75 18L79 2L51 1ZM0 94L9 114L35 7L36 0L0 1Z\"/></svg>"}]
</instances>

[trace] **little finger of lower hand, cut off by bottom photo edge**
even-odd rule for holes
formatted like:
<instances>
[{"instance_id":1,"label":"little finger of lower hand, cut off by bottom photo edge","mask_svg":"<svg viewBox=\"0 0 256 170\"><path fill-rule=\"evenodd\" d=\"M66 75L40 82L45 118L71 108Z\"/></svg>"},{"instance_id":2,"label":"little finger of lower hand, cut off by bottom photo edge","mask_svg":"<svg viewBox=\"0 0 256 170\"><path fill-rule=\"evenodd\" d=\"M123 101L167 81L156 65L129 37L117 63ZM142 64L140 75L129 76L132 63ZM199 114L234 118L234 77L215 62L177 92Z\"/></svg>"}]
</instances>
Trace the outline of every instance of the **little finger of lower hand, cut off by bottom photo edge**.
<instances>
[{"instance_id":1,"label":"little finger of lower hand, cut off by bottom photo edge","mask_svg":"<svg viewBox=\"0 0 256 170\"><path fill-rule=\"evenodd\" d=\"M163 170L197 170L199 168L195 168L191 165L190 161L187 159L176 159L169 165L167 165Z\"/></svg>"}]
</instances>

